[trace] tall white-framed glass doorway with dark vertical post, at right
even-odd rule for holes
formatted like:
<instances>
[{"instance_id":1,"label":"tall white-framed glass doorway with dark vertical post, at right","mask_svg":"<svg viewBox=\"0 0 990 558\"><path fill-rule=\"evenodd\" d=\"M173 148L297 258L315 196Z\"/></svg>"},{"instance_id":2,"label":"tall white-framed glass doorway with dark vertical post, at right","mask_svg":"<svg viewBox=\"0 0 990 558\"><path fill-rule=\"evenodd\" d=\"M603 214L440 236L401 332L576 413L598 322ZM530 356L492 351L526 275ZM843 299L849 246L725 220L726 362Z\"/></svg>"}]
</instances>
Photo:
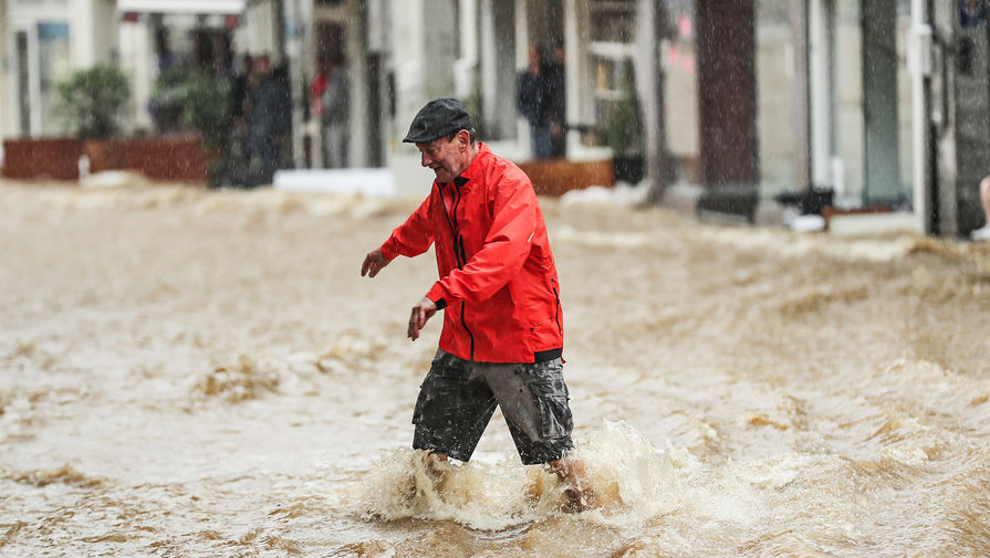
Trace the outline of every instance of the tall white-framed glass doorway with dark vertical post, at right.
<instances>
[{"instance_id":1,"label":"tall white-framed glass doorway with dark vertical post, at right","mask_svg":"<svg viewBox=\"0 0 990 558\"><path fill-rule=\"evenodd\" d=\"M910 201L908 0L811 0L812 176L844 207Z\"/></svg>"}]
</instances>

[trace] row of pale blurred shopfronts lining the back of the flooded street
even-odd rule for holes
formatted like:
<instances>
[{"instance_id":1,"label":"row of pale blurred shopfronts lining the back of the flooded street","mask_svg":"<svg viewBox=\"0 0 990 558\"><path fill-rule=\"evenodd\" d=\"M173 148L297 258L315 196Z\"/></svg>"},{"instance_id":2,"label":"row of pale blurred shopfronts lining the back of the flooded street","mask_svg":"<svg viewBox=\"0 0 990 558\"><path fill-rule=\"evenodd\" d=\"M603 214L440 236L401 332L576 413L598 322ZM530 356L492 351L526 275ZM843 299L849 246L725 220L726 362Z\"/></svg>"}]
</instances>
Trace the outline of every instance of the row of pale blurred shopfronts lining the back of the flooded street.
<instances>
[{"instance_id":1,"label":"row of pale blurred shopfronts lining the back of the flooded street","mask_svg":"<svg viewBox=\"0 0 990 558\"><path fill-rule=\"evenodd\" d=\"M187 51L189 30L212 29L288 65L298 168L327 165L311 92L331 59L348 82L346 166L408 158L405 127L442 95L523 160L517 80L533 44L561 46L569 159L613 155L632 93L660 192L692 185L702 209L752 218L778 193L831 188L840 208L913 209L919 230L965 234L990 172L987 13L982 0L0 0L0 135L56 133L53 84L101 60L132 76L131 127L147 128L156 29Z\"/></svg>"}]
</instances>

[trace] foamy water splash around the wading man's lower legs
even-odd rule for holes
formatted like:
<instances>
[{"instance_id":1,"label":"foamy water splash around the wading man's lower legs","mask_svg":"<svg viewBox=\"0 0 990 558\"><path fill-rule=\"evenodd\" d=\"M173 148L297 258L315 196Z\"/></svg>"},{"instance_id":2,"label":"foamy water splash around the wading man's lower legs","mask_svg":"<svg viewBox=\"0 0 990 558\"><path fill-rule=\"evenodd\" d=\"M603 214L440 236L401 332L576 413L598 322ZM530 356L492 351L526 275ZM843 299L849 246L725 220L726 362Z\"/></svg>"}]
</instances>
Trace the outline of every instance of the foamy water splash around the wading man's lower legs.
<instances>
[{"instance_id":1,"label":"foamy water splash around the wading man's lower legs","mask_svg":"<svg viewBox=\"0 0 990 558\"><path fill-rule=\"evenodd\" d=\"M674 465L625 422L604 421L569 459L585 463L597 504L586 517L605 525L642 523L675 509ZM382 454L346 504L364 518L455 522L501 530L564 513L569 486L549 467L431 460L418 450Z\"/></svg>"}]
</instances>

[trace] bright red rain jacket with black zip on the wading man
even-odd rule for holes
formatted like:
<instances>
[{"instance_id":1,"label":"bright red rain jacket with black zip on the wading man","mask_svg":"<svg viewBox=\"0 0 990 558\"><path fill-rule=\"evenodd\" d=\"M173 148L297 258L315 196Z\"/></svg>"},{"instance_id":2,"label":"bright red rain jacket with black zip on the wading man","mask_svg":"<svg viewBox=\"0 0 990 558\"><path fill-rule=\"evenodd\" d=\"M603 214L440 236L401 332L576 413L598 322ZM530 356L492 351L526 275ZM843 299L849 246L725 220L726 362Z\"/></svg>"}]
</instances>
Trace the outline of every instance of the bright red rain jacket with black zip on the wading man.
<instances>
[{"instance_id":1,"label":"bright red rain jacket with black zip on the wading man","mask_svg":"<svg viewBox=\"0 0 990 558\"><path fill-rule=\"evenodd\" d=\"M441 349L479 362L561 356L556 266L533 185L519 167L479 143L460 177L434 181L382 254L411 257L430 244L440 280L426 296L446 308Z\"/></svg>"}]
</instances>

